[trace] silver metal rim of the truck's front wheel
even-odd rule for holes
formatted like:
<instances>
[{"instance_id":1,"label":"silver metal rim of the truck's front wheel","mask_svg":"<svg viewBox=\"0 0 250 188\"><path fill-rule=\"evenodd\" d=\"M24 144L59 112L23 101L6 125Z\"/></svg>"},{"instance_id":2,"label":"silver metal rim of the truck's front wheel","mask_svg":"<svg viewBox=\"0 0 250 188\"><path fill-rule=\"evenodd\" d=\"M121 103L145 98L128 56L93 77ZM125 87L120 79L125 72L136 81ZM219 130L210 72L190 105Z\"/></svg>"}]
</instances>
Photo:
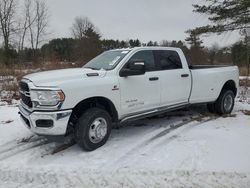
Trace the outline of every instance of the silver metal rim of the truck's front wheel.
<instances>
[{"instance_id":1,"label":"silver metal rim of the truck's front wheel","mask_svg":"<svg viewBox=\"0 0 250 188\"><path fill-rule=\"evenodd\" d=\"M96 118L89 129L89 139L92 143L99 143L107 134L107 122L104 118Z\"/></svg>"}]
</instances>

